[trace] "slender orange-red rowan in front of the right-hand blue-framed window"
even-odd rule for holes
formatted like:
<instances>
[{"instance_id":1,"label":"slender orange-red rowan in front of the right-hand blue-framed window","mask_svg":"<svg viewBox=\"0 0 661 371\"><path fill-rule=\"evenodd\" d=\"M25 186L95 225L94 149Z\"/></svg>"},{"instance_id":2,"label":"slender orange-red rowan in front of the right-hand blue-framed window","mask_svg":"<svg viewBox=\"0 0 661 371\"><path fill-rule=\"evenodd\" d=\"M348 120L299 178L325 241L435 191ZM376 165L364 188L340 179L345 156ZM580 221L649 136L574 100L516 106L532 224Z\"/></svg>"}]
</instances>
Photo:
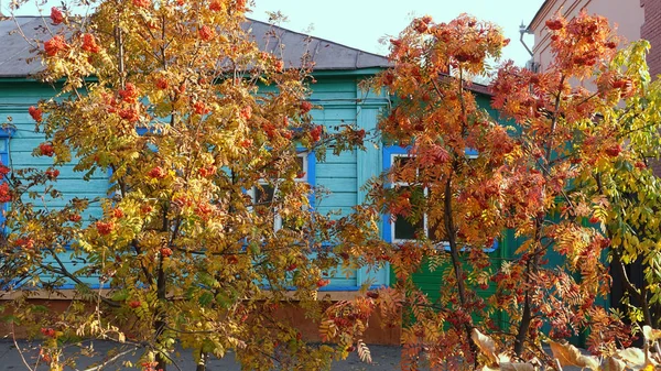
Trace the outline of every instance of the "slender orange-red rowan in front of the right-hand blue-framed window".
<instances>
[{"instance_id":1,"label":"slender orange-red rowan in front of the right-hand blue-framed window","mask_svg":"<svg viewBox=\"0 0 661 371\"><path fill-rule=\"evenodd\" d=\"M404 369L416 368L423 350L432 367L452 360L455 368L473 367L473 329L492 325L492 309L477 291L489 284L494 269L485 249L505 229L500 174L516 143L478 108L470 80L486 73L488 59L499 57L508 40L497 26L464 14L448 23L416 19L390 42L393 67L376 84L397 101L379 130L382 145L399 145L405 155L370 185L368 206L344 220L340 249L362 255L361 262L386 261L394 271L394 290L371 293L370 301L393 310L384 317L398 318L404 309ZM415 237L380 241L362 227L380 214L403 220ZM435 302L413 282L422 264L444 271ZM322 332L333 334L324 325Z\"/></svg>"}]
</instances>

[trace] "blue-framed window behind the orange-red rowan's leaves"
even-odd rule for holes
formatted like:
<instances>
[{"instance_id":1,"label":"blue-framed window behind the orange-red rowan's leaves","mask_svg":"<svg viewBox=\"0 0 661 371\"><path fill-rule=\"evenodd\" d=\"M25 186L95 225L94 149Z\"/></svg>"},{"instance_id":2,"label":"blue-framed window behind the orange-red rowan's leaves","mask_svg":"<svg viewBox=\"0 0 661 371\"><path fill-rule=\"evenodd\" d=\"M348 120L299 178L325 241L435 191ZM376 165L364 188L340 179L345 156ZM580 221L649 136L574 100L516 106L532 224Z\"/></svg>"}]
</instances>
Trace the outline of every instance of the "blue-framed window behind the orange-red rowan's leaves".
<instances>
[{"instance_id":1,"label":"blue-framed window behind the orange-red rowan's leaves","mask_svg":"<svg viewBox=\"0 0 661 371\"><path fill-rule=\"evenodd\" d=\"M394 164L397 159L409 157L410 156L409 151L410 151L409 146L407 146L407 148L394 146L394 145L383 146L383 163L382 163L383 171L390 170L390 167L392 167L392 165ZM478 153L477 153L477 150L475 150L475 149L466 149L466 155L468 159L476 159ZM387 186L391 187L393 185L408 186L408 184L405 184L405 183L388 184ZM426 195L426 189L424 189L423 192ZM409 234L411 233L412 230L415 230L415 229L418 229L418 230L422 229L422 230L424 230L425 234L429 233L426 215L423 216L423 220L421 220L415 226L413 226L411 222L409 222L407 220L398 221L397 218L392 218L390 215L387 215L383 217L383 221L382 221L383 236L382 237L383 237L383 240L387 242L397 243L397 242L414 240L414 238L411 238L412 236L409 236ZM444 242L444 241L440 242L437 244L437 247L444 248L445 250L449 249L449 245L447 244L447 242ZM486 248L485 251L492 252L496 249L498 249L498 240L494 241L494 245L490 248Z\"/></svg>"}]
</instances>

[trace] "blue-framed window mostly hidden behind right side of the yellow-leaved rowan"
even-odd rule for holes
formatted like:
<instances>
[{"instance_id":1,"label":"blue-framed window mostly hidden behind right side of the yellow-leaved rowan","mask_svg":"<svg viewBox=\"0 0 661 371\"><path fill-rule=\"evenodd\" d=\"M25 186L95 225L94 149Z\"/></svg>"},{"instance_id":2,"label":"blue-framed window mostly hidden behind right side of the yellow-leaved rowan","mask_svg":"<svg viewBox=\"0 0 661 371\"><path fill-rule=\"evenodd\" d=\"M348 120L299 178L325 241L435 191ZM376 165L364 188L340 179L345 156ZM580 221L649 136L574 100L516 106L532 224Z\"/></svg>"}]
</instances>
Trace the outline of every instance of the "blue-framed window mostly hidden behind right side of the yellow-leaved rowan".
<instances>
[{"instance_id":1,"label":"blue-framed window mostly hidden behind right side of the yellow-leaved rowan","mask_svg":"<svg viewBox=\"0 0 661 371\"><path fill-rule=\"evenodd\" d=\"M296 163L299 167L299 176L294 179L296 183L307 183L314 186L315 181L315 157L314 153L299 153L296 156ZM267 181L260 181L259 186L256 186L251 190L252 203L256 210L262 209L264 212L273 212L273 230L278 231L283 227L289 229L296 229L295 220L283 220L278 214L277 209L273 209L273 199L278 197L278 182L269 183ZM314 197L311 195L311 205L314 203Z\"/></svg>"}]
</instances>

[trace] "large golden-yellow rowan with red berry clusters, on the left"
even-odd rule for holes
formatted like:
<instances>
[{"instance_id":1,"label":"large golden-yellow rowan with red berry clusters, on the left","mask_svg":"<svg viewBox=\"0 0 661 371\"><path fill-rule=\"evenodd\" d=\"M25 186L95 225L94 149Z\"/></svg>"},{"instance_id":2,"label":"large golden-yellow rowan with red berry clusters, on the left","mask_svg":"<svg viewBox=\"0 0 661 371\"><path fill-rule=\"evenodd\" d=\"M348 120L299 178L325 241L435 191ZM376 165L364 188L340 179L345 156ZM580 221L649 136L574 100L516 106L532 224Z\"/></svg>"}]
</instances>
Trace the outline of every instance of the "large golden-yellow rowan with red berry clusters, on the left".
<instances>
[{"instance_id":1,"label":"large golden-yellow rowan with red berry clusters, on the left","mask_svg":"<svg viewBox=\"0 0 661 371\"><path fill-rule=\"evenodd\" d=\"M317 291L339 259L322 244L333 222L312 209L300 163L362 137L312 122L308 61L260 51L242 28L246 1L90 6L90 17L53 8L46 39L30 41L58 94L30 108L45 135L34 155L53 166L2 167L6 258L30 277L14 287L12 318L41 329L52 370L80 338L144 350L143 370L165 370L175 342L198 370L230 349L256 370L326 365L333 349L277 315L296 301L318 318ZM50 206L66 164L80 182L108 174L107 196ZM65 313L29 301L67 283Z\"/></svg>"}]
</instances>

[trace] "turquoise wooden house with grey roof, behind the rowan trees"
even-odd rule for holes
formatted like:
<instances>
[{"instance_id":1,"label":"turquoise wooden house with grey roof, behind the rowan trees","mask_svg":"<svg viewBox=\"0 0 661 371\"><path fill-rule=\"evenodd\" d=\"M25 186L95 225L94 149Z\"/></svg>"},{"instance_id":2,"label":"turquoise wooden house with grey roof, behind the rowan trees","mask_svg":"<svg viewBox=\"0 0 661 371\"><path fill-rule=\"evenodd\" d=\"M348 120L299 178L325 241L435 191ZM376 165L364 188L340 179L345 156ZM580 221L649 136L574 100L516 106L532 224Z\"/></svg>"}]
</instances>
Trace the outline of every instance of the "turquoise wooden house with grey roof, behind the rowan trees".
<instances>
[{"instance_id":1,"label":"turquoise wooden house with grey roof, behind the rowan trees","mask_svg":"<svg viewBox=\"0 0 661 371\"><path fill-rule=\"evenodd\" d=\"M40 83L33 77L40 70L41 64L39 59L31 61L35 54L25 37L40 39L43 19L20 17L15 21L17 23L13 20L0 21L0 122L11 123L12 127L0 130L0 160L14 170L45 170L52 165L52 160L33 155L34 149L43 142L44 137L35 132L34 121L28 109L35 106L40 99L54 96L57 86ZM20 33L12 33L18 26L25 37ZM389 66L386 57L259 21L249 21L246 26L262 50L282 53L285 66L297 66L305 53L310 55L314 62L313 76L316 80L312 86L310 101L319 107L312 112L316 123L328 128L349 123L369 132L376 129L380 113L390 108L391 101L387 95L368 94L359 88L360 81ZM489 107L490 96L487 88L474 85L473 90L478 96L479 105ZM321 212L350 212L351 207L365 199L366 192L362 185L387 170L392 163L392 156L400 152L383 145L367 145L365 151L349 151L340 155L328 152L324 162L317 162L313 155L307 156L304 161L306 181L329 190L328 196L316 205L316 208ZM63 206L65 200L72 197L104 197L108 192L108 174L97 174L89 181L83 181L83 174L74 172L73 165L64 166L58 177L63 198L52 201L48 206ZM100 208L93 207L85 217L94 218L100 212ZM390 228L391 221L388 219L384 217L382 222L382 236L384 240L393 242L398 236ZM495 247L491 252L494 261L505 259L510 249L507 242ZM87 283L98 286L98 280L95 280L89 277ZM348 276L338 272L330 277L329 285L323 287L323 292L334 301L348 299L354 297L366 282L382 286L390 285L391 280L393 275L388 268L378 272L356 270ZM443 284L437 271L422 270L415 280L432 297L438 295L438 287ZM52 297L46 293L36 296L48 301L67 299L66 295ZM294 316L295 313L291 315ZM378 325L372 327L373 331L368 336L368 340L399 343L397 329L380 330ZM316 332L313 326L310 326L308 330Z\"/></svg>"}]
</instances>

